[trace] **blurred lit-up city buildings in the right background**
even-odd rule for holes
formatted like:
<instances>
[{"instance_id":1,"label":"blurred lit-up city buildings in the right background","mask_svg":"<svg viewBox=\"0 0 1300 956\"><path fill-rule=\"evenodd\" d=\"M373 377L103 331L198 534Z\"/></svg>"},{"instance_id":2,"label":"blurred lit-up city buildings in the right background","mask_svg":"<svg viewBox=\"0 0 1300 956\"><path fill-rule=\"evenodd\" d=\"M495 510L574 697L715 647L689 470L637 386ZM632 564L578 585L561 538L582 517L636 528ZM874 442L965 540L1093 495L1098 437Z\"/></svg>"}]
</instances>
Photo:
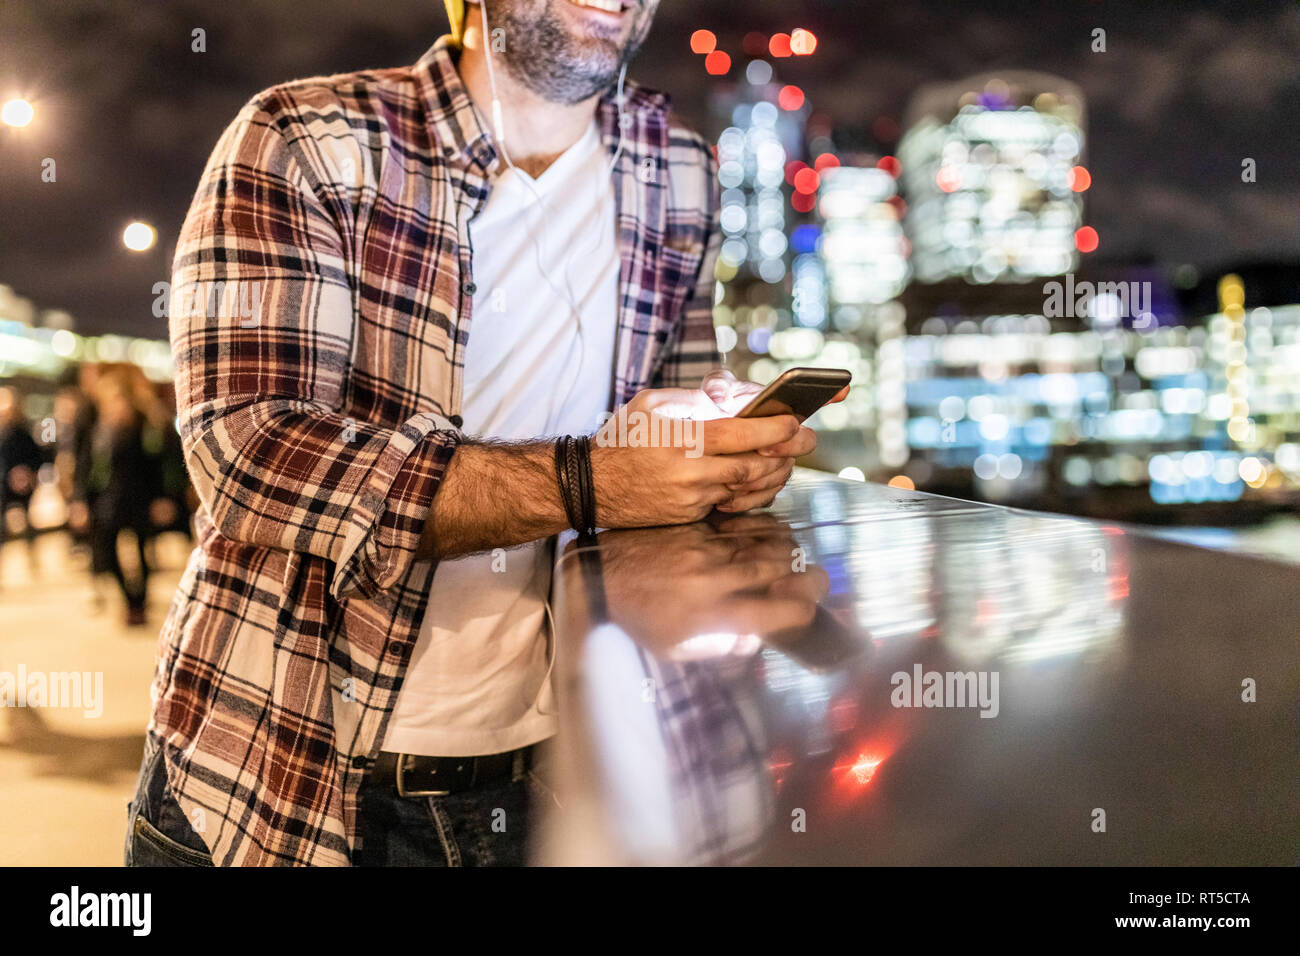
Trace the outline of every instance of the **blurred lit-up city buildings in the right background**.
<instances>
[{"instance_id":1,"label":"blurred lit-up city buildings in the right background","mask_svg":"<svg viewBox=\"0 0 1300 956\"><path fill-rule=\"evenodd\" d=\"M748 38L774 57L788 39ZM714 317L754 381L853 372L848 401L811 420L853 436L820 467L1066 509L1097 489L1158 507L1300 490L1300 304L1247 310L1227 276L1219 312L1188 320L1156 272L1091 271L1086 304L1071 291L1071 311L1049 308L1044 280L1072 290L1100 247L1074 85L1002 72L927 87L897 155L872 155L840 147L780 60L758 62L749 92L719 94ZM980 298L994 284L1001 310Z\"/></svg>"}]
</instances>

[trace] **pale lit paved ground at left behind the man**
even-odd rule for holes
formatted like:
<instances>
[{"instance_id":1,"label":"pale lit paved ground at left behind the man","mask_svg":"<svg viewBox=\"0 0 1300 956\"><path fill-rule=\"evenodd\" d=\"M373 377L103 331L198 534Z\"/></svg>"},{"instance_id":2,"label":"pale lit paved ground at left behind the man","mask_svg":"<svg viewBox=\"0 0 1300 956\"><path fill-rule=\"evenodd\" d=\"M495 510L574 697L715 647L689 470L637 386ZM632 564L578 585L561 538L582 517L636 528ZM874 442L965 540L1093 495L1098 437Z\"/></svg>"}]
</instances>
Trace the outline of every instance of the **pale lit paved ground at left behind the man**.
<instances>
[{"instance_id":1,"label":"pale lit paved ground at left behind the man","mask_svg":"<svg viewBox=\"0 0 1300 956\"><path fill-rule=\"evenodd\" d=\"M150 622L136 628L125 626L108 580L95 610L84 561L69 557L61 535L38 541L36 568L23 545L0 548L0 702L8 704L0 706L0 866L122 862L153 650L188 549L179 536L157 544ZM5 684L20 669L27 687L38 672L88 671L88 688L103 675L101 701L13 706L4 701ZM87 714L87 702L101 702L103 713L94 715L92 706Z\"/></svg>"}]
</instances>

